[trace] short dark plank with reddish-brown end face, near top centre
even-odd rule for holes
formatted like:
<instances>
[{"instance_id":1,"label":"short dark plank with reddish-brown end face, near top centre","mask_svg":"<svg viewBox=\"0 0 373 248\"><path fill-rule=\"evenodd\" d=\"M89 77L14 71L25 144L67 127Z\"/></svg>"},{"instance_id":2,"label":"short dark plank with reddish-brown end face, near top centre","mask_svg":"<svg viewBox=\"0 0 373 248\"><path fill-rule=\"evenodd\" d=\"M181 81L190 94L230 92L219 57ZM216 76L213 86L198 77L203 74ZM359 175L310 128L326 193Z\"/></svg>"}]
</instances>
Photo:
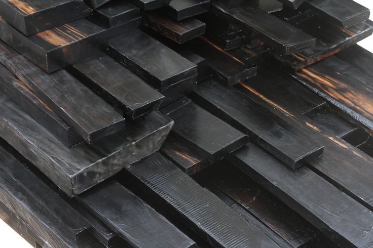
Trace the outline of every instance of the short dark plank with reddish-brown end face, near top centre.
<instances>
[{"instance_id":1,"label":"short dark plank with reddish-brown end face, near top centre","mask_svg":"<svg viewBox=\"0 0 373 248\"><path fill-rule=\"evenodd\" d=\"M194 18L174 21L157 12L145 12L143 17L145 25L178 44L187 42L205 33L206 24Z\"/></svg>"}]
</instances>

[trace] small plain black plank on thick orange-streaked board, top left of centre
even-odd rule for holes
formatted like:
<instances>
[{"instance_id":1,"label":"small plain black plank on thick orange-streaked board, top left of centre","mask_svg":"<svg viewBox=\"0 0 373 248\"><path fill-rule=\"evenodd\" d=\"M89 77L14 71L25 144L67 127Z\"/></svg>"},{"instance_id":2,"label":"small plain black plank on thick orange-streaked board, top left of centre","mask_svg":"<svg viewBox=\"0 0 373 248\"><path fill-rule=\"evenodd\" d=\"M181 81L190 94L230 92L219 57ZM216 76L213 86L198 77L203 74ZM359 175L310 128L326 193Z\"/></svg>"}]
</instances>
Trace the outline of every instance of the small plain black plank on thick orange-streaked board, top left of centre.
<instances>
[{"instance_id":1,"label":"small plain black plank on thick orange-streaked board, top left of centre","mask_svg":"<svg viewBox=\"0 0 373 248\"><path fill-rule=\"evenodd\" d=\"M111 1L93 11L93 22L105 28L117 26L140 16L140 9L121 0Z\"/></svg>"}]
</instances>

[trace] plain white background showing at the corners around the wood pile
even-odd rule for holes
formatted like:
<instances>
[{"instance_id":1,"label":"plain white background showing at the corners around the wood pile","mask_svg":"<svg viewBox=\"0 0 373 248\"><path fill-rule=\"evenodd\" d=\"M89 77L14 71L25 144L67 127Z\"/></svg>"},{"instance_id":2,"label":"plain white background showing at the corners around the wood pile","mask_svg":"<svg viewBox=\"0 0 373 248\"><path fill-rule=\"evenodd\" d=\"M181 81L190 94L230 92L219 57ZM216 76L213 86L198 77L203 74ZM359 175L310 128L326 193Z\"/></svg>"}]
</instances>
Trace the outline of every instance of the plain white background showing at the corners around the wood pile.
<instances>
[{"instance_id":1,"label":"plain white background showing at the corners around the wood pile","mask_svg":"<svg viewBox=\"0 0 373 248\"><path fill-rule=\"evenodd\" d=\"M248 0L249 1L249 0ZM355 0L355 2L370 9L373 13L372 0ZM370 15L373 19L373 14ZM360 46L373 53L373 35L358 43ZM21 236L0 219L0 247L32 248Z\"/></svg>"}]
</instances>

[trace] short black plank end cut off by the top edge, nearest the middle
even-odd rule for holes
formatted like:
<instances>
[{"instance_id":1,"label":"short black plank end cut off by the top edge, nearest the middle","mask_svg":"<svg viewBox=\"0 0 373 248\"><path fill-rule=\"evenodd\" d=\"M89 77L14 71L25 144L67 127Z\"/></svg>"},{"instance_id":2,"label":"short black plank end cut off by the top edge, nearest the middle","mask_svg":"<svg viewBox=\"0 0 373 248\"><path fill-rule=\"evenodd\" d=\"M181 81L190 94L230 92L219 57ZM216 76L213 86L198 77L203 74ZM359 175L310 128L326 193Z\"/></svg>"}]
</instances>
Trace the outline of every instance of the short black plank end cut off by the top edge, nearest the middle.
<instances>
[{"instance_id":1,"label":"short black plank end cut off by the top edge, nearest the middle","mask_svg":"<svg viewBox=\"0 0 373 248\"><path fill-rule=\"evenodd\" d=\"M176 21L205 13L210 9L210 0L171 0L164 13Z\"/></svg>"}]
</instances>

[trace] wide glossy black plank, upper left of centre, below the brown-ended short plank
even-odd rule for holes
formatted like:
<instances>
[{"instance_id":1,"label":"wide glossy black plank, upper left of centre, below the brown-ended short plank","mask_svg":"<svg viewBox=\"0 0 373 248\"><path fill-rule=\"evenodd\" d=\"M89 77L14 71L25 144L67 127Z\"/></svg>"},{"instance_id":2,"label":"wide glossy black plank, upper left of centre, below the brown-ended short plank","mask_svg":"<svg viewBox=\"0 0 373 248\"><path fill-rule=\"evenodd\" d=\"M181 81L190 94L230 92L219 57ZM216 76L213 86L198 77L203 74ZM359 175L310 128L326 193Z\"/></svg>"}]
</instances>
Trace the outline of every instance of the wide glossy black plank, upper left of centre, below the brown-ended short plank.
<instances>
[{"instance_id":1,"label":"wide glossy black plank, upper left of centre, below the brown-ended short plank","mask_svg":"<svg viewBox=\"0 0 373 248\"><path fill-rule=\"evenodd\" d=\"M161 90L197 75L197 66L136 29L108 40L109 54Z\"/></svg>"}]
</instances>

